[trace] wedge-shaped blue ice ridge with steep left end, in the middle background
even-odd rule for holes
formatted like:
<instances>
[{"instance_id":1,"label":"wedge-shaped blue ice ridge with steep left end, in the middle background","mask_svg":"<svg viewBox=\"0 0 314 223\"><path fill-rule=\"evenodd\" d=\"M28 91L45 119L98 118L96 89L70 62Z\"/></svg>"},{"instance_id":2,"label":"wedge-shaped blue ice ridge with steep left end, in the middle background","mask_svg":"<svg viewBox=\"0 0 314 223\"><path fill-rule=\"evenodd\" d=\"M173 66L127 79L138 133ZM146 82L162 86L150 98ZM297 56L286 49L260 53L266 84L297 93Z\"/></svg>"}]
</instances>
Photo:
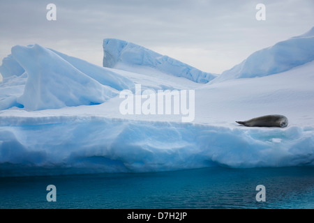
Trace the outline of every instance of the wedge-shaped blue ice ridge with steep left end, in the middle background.
<instances>
[{"instance_id":1,"label":"wedge-shaped blue ice ridge with steep left end, in the middle background","mask_svg":"<svg viewBox=\"0 0 314 223\"><path fill-rule=\"evenodd\" d=\"M202 72L169 56L163 56L124 40L103 40L103 66L158 76L160 73L185 77L197 83L207 83L217 75Z\"/></svg>"}]
</instances>

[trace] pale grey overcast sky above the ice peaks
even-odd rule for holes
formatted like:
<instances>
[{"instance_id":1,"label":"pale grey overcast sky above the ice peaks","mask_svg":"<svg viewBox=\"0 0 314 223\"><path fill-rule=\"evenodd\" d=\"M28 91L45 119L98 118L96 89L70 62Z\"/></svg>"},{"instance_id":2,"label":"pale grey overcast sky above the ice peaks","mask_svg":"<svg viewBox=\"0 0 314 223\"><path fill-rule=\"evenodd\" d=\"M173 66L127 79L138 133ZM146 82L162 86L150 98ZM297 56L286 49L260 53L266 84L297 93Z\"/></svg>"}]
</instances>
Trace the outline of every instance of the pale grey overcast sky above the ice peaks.
<instances>
[{"instance_id":1,"label":"pale grey overcast sky above the ice peaks","mask_svg":"<svg viewBox=\"0 0 314 223\"><path fill-rule=\"evenodd\" d=\"M57 21L47 21L48 3ZM0 0L0 60L38 43L102 66L103 39L119 38L219 74L312 26L313 0Z\"/></svg>"}]
</instances>

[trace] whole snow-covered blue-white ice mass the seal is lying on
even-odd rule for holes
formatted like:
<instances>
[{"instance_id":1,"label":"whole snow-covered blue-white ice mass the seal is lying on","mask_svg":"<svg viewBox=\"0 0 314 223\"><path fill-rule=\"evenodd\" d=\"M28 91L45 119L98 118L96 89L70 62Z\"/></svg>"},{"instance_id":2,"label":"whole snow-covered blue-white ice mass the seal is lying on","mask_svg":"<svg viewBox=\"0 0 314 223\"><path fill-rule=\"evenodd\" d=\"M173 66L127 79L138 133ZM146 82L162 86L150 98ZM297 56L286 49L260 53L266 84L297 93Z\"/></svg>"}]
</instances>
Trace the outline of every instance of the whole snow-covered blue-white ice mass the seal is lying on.
<instances>
[{"instance_id":1,"label":"whole snow-covered blue-white ice mass the seal is lying on","mask_svg":"<svg viewBox=\"0 0 314 223\"><path fill-rule=\"evenodd\" d=\"M292 39L311 36L310 31ZM9 57L24 71L11 72L0 83L0 176L313 166L313 48L310 42L290 40L297 44L285 43L277 50L289 49L293 61L308 62L287 69L275 60L281 70L276 74L225 76L207 84L139 65L132 58L126 63L126 55L123 66L130 69L121 70L39 45L13 47ZM116 41L116 50L111 46L108 63L120 63L114 59L121 58L122 43L127 44ZM184 114L121 114L124 99L119 93L134 93L134 84L141 84L142 92L194 90L194 120L182 122ZM88 100L82 101L84 97ZM235 123L267 114L285 115L289 125L249 128Z\"/></svg>"}]
</instances>

